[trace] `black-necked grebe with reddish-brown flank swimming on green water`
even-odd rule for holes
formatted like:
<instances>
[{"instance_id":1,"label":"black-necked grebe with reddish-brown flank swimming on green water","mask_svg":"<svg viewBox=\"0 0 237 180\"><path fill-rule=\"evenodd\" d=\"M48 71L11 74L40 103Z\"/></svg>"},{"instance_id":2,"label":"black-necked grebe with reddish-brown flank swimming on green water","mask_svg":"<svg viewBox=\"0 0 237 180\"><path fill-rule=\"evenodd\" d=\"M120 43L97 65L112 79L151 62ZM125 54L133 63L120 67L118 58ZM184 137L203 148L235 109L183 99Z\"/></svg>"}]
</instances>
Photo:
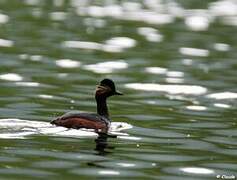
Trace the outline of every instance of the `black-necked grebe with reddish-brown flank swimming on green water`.
<instances>
[{"instance_id":1,"label":"black-necked grebe with reddish-brown flank swimming on green water","mask_svg":"<svg viewBox=\"0 0 237 180\"><path fill-rule=\"evenodd\" d=\"M69 112L53 120L51 124L74 129L94 129L97 133L107 133L111 121L106 99L113 95L122 95L122 93L116 91L112 80L104 79L96 87L97 114Z\"/></svg>"}]
</instances>

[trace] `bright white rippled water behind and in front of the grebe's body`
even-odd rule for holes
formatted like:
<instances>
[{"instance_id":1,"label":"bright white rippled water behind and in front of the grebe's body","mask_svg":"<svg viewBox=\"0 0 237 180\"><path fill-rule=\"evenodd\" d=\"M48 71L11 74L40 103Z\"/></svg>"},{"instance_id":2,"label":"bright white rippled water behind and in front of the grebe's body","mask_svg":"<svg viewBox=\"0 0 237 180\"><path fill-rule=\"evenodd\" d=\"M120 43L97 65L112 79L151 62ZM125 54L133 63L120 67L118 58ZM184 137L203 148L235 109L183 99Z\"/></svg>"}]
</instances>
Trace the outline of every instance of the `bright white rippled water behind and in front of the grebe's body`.
<instances>
[{"instance_id":1,"label":"bright white rippled water behind and in front of the grebe's body","mask_svg":"<svg viewBox=\"0 0 237 180\"><path fill-rule=\"evenodd\" d=\"M130 128L132 128L132 125L128 123L112 122L109 133L124 136L128 134L122 133L120 131ZM24 139L30 135L63 136L77 138L98 136L97 133L90 129L68 129L51 125L49 122L41 121L0 119L0 139Z\"/></svg>"}]
</instances>

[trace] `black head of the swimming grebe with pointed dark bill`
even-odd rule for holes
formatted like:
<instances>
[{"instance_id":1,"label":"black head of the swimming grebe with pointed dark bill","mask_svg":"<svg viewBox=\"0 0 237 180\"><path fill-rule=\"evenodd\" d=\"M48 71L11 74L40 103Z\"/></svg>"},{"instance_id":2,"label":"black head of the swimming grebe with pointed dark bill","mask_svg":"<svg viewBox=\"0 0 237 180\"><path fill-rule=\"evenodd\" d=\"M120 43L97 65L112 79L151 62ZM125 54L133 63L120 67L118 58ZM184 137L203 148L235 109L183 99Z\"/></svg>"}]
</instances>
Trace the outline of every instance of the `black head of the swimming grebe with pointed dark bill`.
<instances>
[{"instance_id":1,"label":"black head of the swimming grebe with pointed dark bill","mask_svg":"<svg viewBox=\"0 0 237 180\"><path fill-rule=\"evenodd\" d=\"M113 95L123 95L116 91L115 84L110 79L103 79L96 87L96 96L109 97Z\"/></svg>"}]
</instances>

